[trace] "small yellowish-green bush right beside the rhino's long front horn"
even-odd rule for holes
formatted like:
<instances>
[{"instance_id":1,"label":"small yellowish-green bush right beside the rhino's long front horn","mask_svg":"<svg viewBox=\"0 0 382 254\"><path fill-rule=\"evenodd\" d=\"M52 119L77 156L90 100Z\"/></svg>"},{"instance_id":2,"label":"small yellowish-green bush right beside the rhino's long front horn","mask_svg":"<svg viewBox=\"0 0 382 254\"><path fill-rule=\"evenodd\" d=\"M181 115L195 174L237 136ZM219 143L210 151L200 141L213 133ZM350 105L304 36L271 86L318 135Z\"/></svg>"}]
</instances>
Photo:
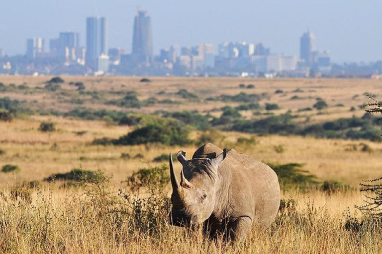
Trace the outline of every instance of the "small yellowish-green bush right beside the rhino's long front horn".
<instances>
[{"instance_id":1,"label":"small yellowish-green bush right beside the rhino's long front horn","mask_svg":"<svg viewBox=\"0 0 382 254\"><path fill-rule=\"evenodd\" d=\"M169 166L163 164L151 168L142 168L134 172L127 180L131 191L138 191L142 187L157 187L162 189L170 181Z\"/></svg>"}]
</instances>

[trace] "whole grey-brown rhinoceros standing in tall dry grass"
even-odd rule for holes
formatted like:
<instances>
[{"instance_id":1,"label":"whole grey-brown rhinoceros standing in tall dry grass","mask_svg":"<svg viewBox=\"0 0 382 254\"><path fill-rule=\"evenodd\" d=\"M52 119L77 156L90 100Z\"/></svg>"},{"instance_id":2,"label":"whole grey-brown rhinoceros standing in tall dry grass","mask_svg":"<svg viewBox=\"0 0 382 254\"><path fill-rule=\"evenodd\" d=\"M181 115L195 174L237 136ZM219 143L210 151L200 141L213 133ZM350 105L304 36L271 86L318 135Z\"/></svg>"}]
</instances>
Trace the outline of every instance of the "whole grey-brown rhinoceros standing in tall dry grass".
<instances>
[{"instance_id":1,"label":"whole grey-brown rhinoceros standing in tall dry grass","mask_svg":"<svg viewBox=\"0 0 382 254\"><path fill-rule=\"evenodd\" d=\"M183 166L180 181L170 153L172 225L202 225L211 238L242 241L251 228L266 229L275 220L280 185L268 165L211 143L198 148L191 160L183 151L177 158Z\"/></svg>"}]
</instances>

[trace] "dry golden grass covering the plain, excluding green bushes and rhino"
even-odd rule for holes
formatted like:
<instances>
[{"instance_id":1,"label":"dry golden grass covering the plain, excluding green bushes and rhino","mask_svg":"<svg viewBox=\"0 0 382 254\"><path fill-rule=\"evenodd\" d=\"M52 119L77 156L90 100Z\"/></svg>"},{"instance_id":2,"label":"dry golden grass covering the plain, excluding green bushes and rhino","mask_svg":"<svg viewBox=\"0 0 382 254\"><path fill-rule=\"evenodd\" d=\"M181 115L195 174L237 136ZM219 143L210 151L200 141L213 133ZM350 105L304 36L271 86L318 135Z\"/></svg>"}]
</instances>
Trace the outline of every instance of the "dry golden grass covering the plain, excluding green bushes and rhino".
<instances>
[{"instance_id":1,"label":"dry golden grass covering the plain, excluding green bushes and rhino","mask_svg":"<svg viewBox=\"0 0 382 254\"><path fill-rule=\"evenodd\" d=\"M129 77L62 77L59 91L44 87L51 77L0 77L4 84L24 84L27 89L6 90L0 97L25 101L30 109L68 112L79 105L99 110L153 113L197 110L219 117L223 106L241 102L206 101L208 97L240 92L264 94L259 104L277 103L280 115L291 110L296 122L361 117L360 105L369 100L364 93L379 98L382 81L327 79L237 79L237 78L150 78L139 82ZM121 108L101 104L90 94L81 94L69 82L83 82L85 91L98 91L103 100L112 100L128 91L140 100L155 97L180 104L156 103L141 108ZM240 88L239 84L255 88ZM185 88L198 100L176 93ZM275 93L283 90L283 93ZM161 92L164 91L164 92ZM160 93L160 94L158 94ZM297 96L297 99L291 97ZM312 107L320 97L328 104L323 111L299 111ZM342 106L338 106L341 104ZM354 110L350 111L350 108ZM264 109L260 110L265 113ZM245 119L266 118L267 114L241 111ZM56 130L38 130L42 122L56 123ZM382 143L369 140L323 139L297 135L256 135L222 130L214 142L235 148L257 160L273 164L300 163L316 181L337 181L346 188L333 192L319 188L287 188L289 200L277 221L265 232L252 232L246 243L236 246L204 239L199 231L167 224L170 187L155 185L131 191L126 181L133 172L166 162L153 162L163 153L182 149L191 157L196 144L167 146L92 145L96 138L118 138L134 127L117 125L109 119L88 121L75 117L20 114L11 122L0 122L0 166L18 165L20 170L0 172L0 252L1 253L382 253L381 222L369 218L354 205L363 204L358 184L363 179L381 177ZM193 129L198 139L201 130ZM211 134L212 135L212 134ZM216 133L215 133L216 135ZM239 142L240 138L251 142ZM250 138L253 139L250 139ZM363 149L367 147L367 149ZM129 154L129 157L122 154ZM136 155L140 156L136 156ZM74 184L46 182L45 178L71 169L97 171L93 179ZM176 163L176 170L180 164ZM290 201L293 199L294 201ZM361 221L363 224L361 224ZM358 223L360 222L360 223Z\"/></svg>"}]
</instances>

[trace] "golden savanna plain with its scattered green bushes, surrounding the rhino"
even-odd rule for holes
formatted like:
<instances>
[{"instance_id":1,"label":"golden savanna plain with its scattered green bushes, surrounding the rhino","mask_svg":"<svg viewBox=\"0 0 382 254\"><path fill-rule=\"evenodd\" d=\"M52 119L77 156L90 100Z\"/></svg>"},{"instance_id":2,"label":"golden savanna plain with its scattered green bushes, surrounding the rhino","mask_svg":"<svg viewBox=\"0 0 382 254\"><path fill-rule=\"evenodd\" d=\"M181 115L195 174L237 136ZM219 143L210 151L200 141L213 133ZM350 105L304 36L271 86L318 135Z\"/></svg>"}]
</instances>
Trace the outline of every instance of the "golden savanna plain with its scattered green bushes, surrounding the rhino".
<instances>
[{"instance_id":1,"label":"golden savanna plain with its scattered green bushes, surrounding the rhino","mask_svg":"<svg viewBox=\"0 0 382 254\"><path fill-rule=\"evenodd\" d=\"M365 111L381 91L371 79L0 76L0 252L382 253L381 193L359 185L382 177L381 116ZM169 225L169 153L207 142L278 174L276 221L243 243Z\"/></svg>"}]
</instances>

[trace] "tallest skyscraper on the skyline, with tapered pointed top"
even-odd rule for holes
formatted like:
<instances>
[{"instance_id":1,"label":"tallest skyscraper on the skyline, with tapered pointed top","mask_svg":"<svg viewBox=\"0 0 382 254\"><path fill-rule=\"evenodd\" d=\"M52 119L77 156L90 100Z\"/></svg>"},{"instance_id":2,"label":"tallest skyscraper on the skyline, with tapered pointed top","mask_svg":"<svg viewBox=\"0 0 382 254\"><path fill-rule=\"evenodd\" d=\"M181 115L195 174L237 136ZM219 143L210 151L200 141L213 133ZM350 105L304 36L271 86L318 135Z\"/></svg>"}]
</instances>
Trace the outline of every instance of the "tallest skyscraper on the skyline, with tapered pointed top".
<instances>
[{"instance_id":1,"label":"tallest skyscraper on the skyline, with tapered pointed top","mask_svg":"<svg viewBox=\"0 0 382 254\"><path fill-rule=\"evenodd\" d=\"M153 59L151 17L146 11L138 10L134 19L132 55L139 62L150 63Z\"/></svg>"}]
</instances>

